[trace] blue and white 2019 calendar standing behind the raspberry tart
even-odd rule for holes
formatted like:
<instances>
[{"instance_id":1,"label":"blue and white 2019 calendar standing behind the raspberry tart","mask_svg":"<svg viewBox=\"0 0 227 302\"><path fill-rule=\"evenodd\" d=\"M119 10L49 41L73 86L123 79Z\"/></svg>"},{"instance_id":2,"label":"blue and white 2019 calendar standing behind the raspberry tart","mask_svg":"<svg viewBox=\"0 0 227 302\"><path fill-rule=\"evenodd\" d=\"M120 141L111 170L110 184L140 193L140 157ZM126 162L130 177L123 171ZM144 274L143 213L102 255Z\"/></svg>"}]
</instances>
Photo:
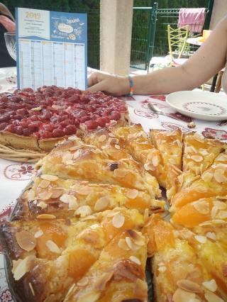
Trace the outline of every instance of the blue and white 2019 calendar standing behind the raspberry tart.
<instances>
[{"instance_id":1,"label":"blue and white 2019 calendar standing behind the raspberry tart","mask_svg":"<svg viewBox=\"0 0 227 302\"><path fill-rule=\"evenodd\" d=\"M16 9L18 88L87 88L87 14Z\"/></svg>"}]
</instances>

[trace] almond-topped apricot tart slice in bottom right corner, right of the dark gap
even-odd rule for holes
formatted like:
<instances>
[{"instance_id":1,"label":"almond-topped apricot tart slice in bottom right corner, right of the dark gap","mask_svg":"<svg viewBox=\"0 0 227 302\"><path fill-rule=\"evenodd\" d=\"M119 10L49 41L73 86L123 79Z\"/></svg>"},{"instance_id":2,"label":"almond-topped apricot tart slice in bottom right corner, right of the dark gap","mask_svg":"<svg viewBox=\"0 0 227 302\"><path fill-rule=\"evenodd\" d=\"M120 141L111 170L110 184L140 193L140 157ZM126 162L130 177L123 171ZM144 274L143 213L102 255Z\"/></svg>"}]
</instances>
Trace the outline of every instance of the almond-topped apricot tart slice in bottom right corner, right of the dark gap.
<instances>
[{"instance_id":1,"label":"almond-topped apricot tart slice in bottom right corner, right of the dark gap","mask_svg":"<svg viewBox=\"0 0 227 302\"><path fill-rule=\"evenodd\" d=\"M224 302L227 298L226 250L214 237L175 228L158 216L146 227L153 253L153 284L157 302ZM207 232L208 233L208 232ZM218 254L215 255L215 253Z\"/></svg>"}]
</instances>

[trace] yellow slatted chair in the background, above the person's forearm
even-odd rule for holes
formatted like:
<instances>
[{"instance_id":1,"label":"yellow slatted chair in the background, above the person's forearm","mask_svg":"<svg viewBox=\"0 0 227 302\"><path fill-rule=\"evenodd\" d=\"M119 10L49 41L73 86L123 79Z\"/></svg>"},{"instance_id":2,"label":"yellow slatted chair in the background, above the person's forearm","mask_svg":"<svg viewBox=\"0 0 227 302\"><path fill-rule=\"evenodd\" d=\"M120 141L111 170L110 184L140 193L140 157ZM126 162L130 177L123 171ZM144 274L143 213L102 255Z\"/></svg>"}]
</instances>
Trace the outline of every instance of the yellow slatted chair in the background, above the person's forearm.
<instances>
[{"instance_id":1,"label":"yellow slatted chair in the background, above the person's forearm","mask_svg":"<svg viewBox=\"0 0 227 302\"><path fill-rule=\"evenodd\" d=\"M187 59L182 58L182 54L187 45L189 36L189 26L182 28L172 28L170 24L167 26L168 45L170 50L171 66L179 66L184 64ZM177 50L177 58L173 57L173 52Z\"/></svg>"}]
</instances>

